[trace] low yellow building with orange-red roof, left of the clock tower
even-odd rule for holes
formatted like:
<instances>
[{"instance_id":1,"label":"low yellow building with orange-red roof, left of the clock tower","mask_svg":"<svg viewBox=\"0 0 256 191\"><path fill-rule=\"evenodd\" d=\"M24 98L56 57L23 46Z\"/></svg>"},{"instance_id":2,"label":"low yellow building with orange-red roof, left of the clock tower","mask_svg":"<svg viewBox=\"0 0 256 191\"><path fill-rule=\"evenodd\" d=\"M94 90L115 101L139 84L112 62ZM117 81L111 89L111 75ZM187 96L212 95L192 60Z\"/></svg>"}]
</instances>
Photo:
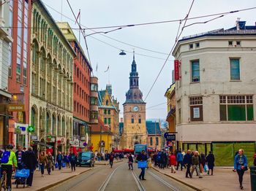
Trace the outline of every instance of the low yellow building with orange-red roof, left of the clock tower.
<instances>
[{"instance_id":1,"label":"low yellow building with orange-red roof, left of the clock tower","mask_svg":"<svg viewBox=\"0 0 256 191\"><path fill-rule=\"evenodd\" d=\"M105 125L99 119L98 124L91 125L91 147L92 151L112 151L112 136L109 125Z\"/></svg>"}]
</instances>

